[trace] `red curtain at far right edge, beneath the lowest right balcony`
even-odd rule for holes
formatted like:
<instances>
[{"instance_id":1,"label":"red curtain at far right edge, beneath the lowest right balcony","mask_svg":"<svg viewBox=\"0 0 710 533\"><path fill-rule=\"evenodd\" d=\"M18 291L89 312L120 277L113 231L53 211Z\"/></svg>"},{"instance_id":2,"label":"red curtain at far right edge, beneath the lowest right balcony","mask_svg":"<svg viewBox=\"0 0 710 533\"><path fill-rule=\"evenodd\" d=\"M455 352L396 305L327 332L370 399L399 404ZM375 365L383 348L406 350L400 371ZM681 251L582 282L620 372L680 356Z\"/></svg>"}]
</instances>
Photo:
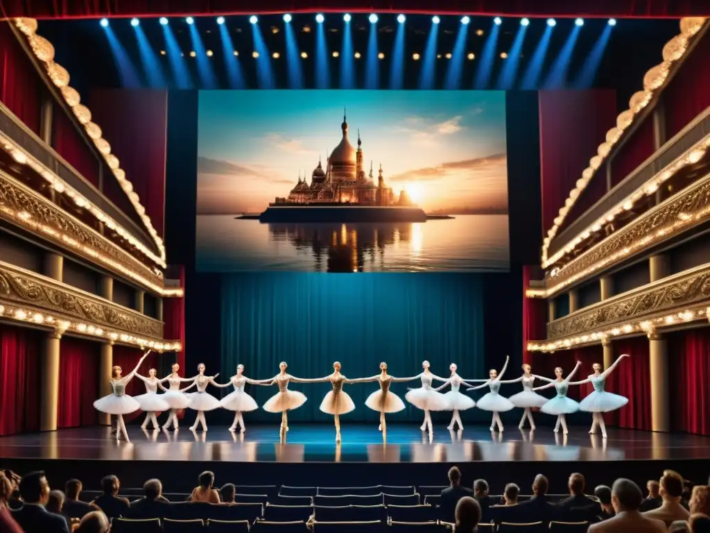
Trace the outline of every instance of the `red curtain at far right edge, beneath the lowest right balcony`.
<instances>
[{"instance_id":1,"label":"red curtain at far right edge, beneath the lowest right balcony","mask_svg":"<svg viewBox=\"0 0 710 533\"><path fill-rule=\"evenodd\" d=\"M710 435L710 328L668 335L672 429Z\"/></svg>"}]
</instances>

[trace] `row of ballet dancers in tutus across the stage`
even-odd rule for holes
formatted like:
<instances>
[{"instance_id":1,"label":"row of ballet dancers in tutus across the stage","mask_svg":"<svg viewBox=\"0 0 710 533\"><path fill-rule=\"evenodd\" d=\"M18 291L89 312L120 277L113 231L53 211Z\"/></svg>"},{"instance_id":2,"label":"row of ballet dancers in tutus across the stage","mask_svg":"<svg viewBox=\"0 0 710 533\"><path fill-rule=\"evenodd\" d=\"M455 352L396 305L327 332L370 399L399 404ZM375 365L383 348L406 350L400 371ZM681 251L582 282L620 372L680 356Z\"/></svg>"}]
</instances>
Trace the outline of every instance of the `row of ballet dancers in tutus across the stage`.
<instances>
[{"instance_id":1,"label":"row of ballet dancers in tutus across the stage","mask_svg":"<svg viewBox=\"0 0 710 533\"><path fill-rule=\"evenodd\" d=\"M244 365L238 365L236 367L236 375L232 376L229 382L220 384L214 381L214 378L219 376L219 374L214 376L204 375L206 369L202 363L197 366L198 374L190 378L180 377L180 375L178 375L180 365L177 363L173 365L173 372L163 379L156 377L155 369L149 370L148 377L140 375L138 374L138 368L141 367L148 353L150 352L146 352L146 354L141 357L136 368L126 376L122 376L121 367L113 367L111 379L112 394L94 402L94 407L99 411L117 416L117 438L123 436L128 440L123 415L133 413L134 411L138 411L138 409L146 411L146 419L141 426L143 429L146 429L148 422L153 424L153 429L158 429L158 420L155 416L155 413L158 411L170 411L168 421L163 425L163 429L170 429L171 425L173 429L178 429L178 410L190 408L197 411L197 419L190 429L195 431L198 426L202 425L203 431L207 431L207 421L204 416L205 411L212 411L219 407L224 407L230 411L235 411L234 423L229 428L229 431L236 431L236 429L241 426L241 432L244 433L246 427L244 425L243 413L258 409L258 405L254 399L244 392L244 385L246 383L264 386L272 384L278 385L279 392L263 404L263 409L271 413L281 414L280 434L283 437L285 432L288 431L288 411L301 407L307 399L302 392L289 390L288 384L290 382L330 382L332 384L332 390L324 397L320 404L320 410L334 416L336 442L341 441L339 416L355 409L355 404L351 397L343 390L343 385L346 383L378 382L380 388L368 396L365 405L380 413L379 430L386 432L385 415L405 409L405 405L400 397L389 390L390 384L393 382L410 382L415 379L420 379L421 387L408 389L407 394L405 394L405 399L410 402L410 404L424 411L424 422L420 429L422 431L428 430L430 436L432 436L433 433L431 411L452 411L452 420L448 429L454 429L456 424L459 429L463 429L460 411L465 411L466 409L477 406L479 409L493 413L491 431L496 431L496 427L498 431L503 431L503 422L501 421L499 413L510 411L515 407L524 409L523 418L520 419L520 425L518 426L520 429L523 429L526 419L530 422L530 429L535 429L535 420L532 418L532 408L539 408L540 411L545 414L557 416L555 433L557 433L560 426L562 426L564 434L567 434L565 415L577 411L588 411L592 414L592 425L589 433L595 434L596 428L599 427L603 438L606 438L603 413L619 409L628 403L628 399L625 397L604 391L606 377L608 377L619 362L621 362L624 357L628 357L628 355L621 355L611 367L604 371L602 371L601 365L595 363L592 366L594 373L589 375L586 379L577 382L572 382L572 377L574 377L579 369L581 362L577 362L577 366L574 367L574 370L564 378L562 377L562 368L560 367L555 369L555 379L549 379L532 374L532 367L525 364L523 365L523 375L516 379L503 381L502 377L506 372L509 361L509 357L506 356L506 363L503 365L501 373L498 374L495 369L491 369L488 373L488 379L463 379L457 374L457 365L455 363L452 363L449 367L451 375L448 378L438 377L430 372L428 361L422 362L422 372L413 377L393 377L387 372L387 364L382 362L380 363L380 373L378 375L348 379L342 375L340 363L334 362L332 374L315 379L305 379L288 374L288 365L285 362L281 362L279 365L280 372L271 379L250 379L244 376ZM141 394L135 398L126 395L126 384L134 376L138 377L146 384L146 394ZM534 387L535 379L540 379L543 382L547 382L547 384ZM434 388L432 387L432 383L435 380L443 382L443 384L440 387ZM169 388L166 389L163 386L164 382L168 382ZM181 389L181 384L186 382L190 382L191 384ZM482 384L474 385L473 383L476 382ZM510 398L503 397L499 394L501 384L517 382L522 382L522 392L514 394ZM573 399L567 397L569 385L580 385L584 383L591 383L594 387L594 391L591 392L591 394L581 402L575 402ZM226 395L222 400L218 400L212 396L212 394L206 392L208 385L224 388L229 387L230 384L234 387L234 391ZM488 387L490 392L485 394L478 402L474 402L473 399L459 392L461 384L465 384L469 387L466 391ZM447 386L451 387L449 392L445 394L439 392ZM187 393L186 391L192 387L197 387L197 392ZM550 387L555 387L557 392L555 398L547 399L537 394L538 390ZM165 394L158 394L158 389L163 390Z\"/></svg>"}]
</instances>

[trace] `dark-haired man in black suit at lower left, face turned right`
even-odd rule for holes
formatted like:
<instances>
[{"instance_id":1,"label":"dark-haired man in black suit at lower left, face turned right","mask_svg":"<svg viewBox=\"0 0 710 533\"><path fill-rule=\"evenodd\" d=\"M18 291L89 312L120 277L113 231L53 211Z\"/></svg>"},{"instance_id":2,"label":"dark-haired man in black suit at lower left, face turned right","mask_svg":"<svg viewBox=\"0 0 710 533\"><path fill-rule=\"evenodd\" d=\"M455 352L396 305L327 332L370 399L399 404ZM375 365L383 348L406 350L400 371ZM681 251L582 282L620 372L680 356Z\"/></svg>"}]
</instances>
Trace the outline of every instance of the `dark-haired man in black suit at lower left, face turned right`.
<instances>
[{"instance_id":1,"label":"dark-haired man in black suit at lower left, face turned right","mask_svg":"<svg viewBox=\"0 0 710 533\"><path fill-rule=\"evenodd\" d=\"M12 512L12 517L26 532L69 533L64 517L53 515L44 508L49 499L49 483L44 472L31 472L20 482L23 505Z\"/></svg>"}]
</instances>

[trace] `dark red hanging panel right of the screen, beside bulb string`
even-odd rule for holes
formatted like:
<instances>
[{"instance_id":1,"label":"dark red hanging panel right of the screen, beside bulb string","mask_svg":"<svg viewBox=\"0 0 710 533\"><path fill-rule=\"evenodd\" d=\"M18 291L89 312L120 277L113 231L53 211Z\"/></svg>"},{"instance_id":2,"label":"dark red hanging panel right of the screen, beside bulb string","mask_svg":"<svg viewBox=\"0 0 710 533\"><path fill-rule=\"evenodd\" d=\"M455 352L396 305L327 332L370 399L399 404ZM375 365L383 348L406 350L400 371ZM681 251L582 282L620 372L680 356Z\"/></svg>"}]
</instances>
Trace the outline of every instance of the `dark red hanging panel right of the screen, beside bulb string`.
<instances>
[{"instance_id":1,"label":"dark red hanging panel right of the screen, beside bulb string","mask_svg":"<svg viewBox=\"0 0 710 533\"><path fill-rule=\"evenodd\" d=\"M540 91L540 179L545 232L552 227L569 191L614 124L613 90ZM597 185L600 179L603 183ZM604 193L606 176L597 173L577 199L576 209L589 208ZM572 217L567 217L567 222L570 220Z\"/></svg>"}]
</instances>

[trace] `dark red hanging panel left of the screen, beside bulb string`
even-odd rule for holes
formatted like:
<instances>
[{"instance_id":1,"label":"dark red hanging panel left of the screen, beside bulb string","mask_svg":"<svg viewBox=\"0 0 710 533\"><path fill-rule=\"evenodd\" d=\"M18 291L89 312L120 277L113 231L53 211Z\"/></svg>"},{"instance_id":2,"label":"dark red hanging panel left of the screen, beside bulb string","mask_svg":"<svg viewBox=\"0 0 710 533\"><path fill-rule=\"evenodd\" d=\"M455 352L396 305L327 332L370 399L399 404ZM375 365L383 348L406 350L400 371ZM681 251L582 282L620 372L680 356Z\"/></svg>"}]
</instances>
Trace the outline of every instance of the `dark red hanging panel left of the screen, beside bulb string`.
<instances>
[{"instance_id":1,"label":"dark red hanging panel left of the screen, beside bulb string","mask_svg":"<svg viewBox=\"0 0 710 533\"><path fill-rule=\"evenodd\" d=\"M93 120L141 198L153 227L163 235L168 92L148 89L94 90L89 98ZM114 203L126 193L114 179L104 179L104 194ZM132 208L131 208L132 210Z\"/></svg>"}]
</instances>

